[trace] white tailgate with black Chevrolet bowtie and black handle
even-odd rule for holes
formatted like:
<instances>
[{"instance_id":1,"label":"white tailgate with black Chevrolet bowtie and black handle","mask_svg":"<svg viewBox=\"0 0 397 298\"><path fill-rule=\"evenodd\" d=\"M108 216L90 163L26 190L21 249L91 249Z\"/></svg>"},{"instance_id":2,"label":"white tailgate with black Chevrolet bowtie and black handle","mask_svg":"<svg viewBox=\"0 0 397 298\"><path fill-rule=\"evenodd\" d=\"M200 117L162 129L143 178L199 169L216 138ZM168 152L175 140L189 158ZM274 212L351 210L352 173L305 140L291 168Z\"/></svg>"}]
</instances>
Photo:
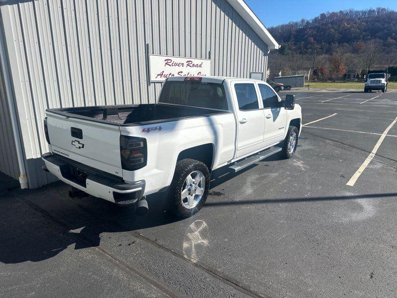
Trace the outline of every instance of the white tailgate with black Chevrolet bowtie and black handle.
<instances>
[{"instance_id":1,"label":"white tailgate with black Chevrolet bowtie and black handle","mask_svg":"<svg viewBox=\"0 0 397 298\"><path fill-rule=\"evenodd\" d=\"M123 177L117 125L47 114L53 153Z\"/></svg>"}]
</instances>

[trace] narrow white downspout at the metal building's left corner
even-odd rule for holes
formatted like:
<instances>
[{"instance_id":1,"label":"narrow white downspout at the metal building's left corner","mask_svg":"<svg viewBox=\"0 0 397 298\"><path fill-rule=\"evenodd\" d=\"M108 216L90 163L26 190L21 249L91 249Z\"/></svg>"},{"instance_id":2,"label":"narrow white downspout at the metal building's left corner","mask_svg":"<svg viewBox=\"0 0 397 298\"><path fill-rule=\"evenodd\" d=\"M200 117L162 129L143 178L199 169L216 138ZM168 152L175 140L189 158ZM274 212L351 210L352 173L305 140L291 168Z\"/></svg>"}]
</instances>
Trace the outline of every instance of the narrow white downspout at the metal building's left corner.
<instances>
[{"instance_id":1,"label":"narrow white downspout at the metal building's left corner","mask_svg":"<svg viewBox=\"0 0 397 298\"><path fill-rule=\"evenodd\" d=\"M15 112L15 105L14 105L14 97L12 94L12 87L11 81L9 78L8 72L8 64L6 59L6 52L5 52L5 44L3 38L3 32L0 32L0 59L1 59L1 68L4 75L4 85L5 85L5 92L7 95L7 102L8 108L11 116L11 124L12 124L12 131L14 135L14 142L16 148L16 155L18 157L18 165L19 165L19 183L21 184L21 188L28 188L28 179L26 176L26 169L25 169L25 161L23 158L23 151L22 151L22 143L21 138L19 135L19 128L18 128L18 121Z\"/></svg>"}]
</instances>

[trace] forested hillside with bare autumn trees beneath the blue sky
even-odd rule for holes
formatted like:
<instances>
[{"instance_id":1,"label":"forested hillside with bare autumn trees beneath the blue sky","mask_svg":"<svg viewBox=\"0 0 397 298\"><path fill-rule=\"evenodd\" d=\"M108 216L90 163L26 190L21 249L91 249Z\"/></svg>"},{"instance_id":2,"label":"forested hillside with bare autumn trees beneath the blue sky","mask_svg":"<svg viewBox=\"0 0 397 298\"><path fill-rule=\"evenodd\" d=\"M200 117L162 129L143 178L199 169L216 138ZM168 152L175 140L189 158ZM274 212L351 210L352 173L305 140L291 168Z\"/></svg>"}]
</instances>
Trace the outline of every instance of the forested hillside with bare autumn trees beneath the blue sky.
<instances>
[{"instance_id":1,"label":"forested hillside with bare autumn trees beneath the blue sky","mask_svg":"<svg viewBox=\"0 0 397 298\"><path fill-rule=\"evenodd\" d=\"M397 12L387 8L327 12L269 31L281 45L270 53L271 73L311 69L314 51L315 69L333 78L397 64Z\"/></svg>"}]
</instances>

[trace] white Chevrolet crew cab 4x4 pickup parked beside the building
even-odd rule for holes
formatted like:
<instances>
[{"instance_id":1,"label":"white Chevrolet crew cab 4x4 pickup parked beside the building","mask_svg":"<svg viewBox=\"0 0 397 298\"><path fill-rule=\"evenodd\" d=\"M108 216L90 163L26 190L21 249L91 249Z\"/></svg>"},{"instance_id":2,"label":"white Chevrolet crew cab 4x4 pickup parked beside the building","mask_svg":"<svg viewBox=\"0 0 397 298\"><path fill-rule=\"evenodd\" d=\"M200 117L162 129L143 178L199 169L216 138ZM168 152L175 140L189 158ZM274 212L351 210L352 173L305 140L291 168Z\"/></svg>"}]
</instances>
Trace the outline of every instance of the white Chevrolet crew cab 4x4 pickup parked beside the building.
<instances>
[{"instance_id":1,"label":"white Chevrolet crew cab 4x4 pickup parked beside the building","mask_svg":"<svg viewBox=\"0 0 397 298\"><path fill-rule=\"evenodd\" d=\"M190 217L206 201L212 170L294 154L302 116L293 101L260 80L188 76L168 78L156 104L48 109L44 169L138 209L167 191L170 210Z\"/></svg>"}]
</instances>

